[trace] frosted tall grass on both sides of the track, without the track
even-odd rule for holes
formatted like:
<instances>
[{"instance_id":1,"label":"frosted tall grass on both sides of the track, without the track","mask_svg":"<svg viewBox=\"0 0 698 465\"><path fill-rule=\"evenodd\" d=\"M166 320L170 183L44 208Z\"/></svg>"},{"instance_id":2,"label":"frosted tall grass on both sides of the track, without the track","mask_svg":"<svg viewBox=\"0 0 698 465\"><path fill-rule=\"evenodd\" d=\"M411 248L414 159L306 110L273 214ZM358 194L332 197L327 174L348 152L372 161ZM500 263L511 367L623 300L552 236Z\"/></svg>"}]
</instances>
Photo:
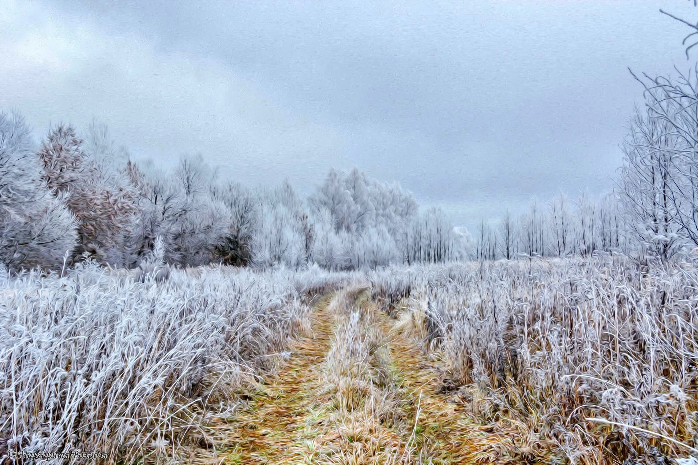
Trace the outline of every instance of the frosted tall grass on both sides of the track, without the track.
<instances>
[{"instance_id":1,"label":"frosted tall grass on both sides of the track, without the track","mask_svg":"<svg viewBox=\"0 0 698 465\"><path fill-rule=\"evenodd\" d=\"M212 447L207 425L274 372L313 298L362 283L387 314L416 311L405 324L444 397L497 436L498 463L698 455L692 263L161 271L0 273L0 461L8 450L80 449L155 462ZM342 354L336 367L352 367ZM328 386L353 392L339 381Z\"/></svg>"}]
</instances>

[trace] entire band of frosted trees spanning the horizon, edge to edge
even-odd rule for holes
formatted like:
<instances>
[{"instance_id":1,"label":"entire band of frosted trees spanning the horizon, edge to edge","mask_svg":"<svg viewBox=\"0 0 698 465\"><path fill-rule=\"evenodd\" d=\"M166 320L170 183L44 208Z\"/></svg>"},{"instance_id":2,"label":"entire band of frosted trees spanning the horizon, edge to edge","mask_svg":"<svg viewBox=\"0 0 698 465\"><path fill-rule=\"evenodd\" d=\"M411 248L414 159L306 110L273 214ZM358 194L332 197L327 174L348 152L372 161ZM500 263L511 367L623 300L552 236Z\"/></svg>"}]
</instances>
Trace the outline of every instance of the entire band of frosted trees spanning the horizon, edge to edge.
<instances>
[{"instance_id":1,"label":"entire band of frosted trees spanning the horizon, edge to edge","mask_svg":"<svg viewBox=\"0 0 698 465\"><path fill-rule=\"evenodd\" d=\"M352 270L614 251L669 259L698 247L698 65L676 73L632 74L644 106L613 192L534 199L482 220L475 240L441 208L358 169L330 170L306 196L288 181L251 188L218 179L200 155L170 170L136 162L103 124L57 125L36 142L20 114L0 112L0 264L135 268L156 242L177 266Z\"/></svg>"}]
</instances>

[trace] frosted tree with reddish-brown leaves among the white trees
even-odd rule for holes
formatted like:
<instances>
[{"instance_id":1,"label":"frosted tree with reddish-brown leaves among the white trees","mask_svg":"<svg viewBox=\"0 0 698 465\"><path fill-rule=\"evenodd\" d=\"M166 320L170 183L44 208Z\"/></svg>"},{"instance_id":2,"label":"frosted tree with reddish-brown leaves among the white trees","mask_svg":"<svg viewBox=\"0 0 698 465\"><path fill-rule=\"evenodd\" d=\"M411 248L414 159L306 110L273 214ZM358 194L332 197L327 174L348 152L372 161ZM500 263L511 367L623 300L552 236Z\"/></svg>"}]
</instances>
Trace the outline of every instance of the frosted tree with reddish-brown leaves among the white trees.
<instances>
[{"instance_id":1,"label":"frosted tree with reddish-brown leaves among the white trees","mask_svg":"<svg viewBox=\"0 0 698 465\"><path fill-rule=\"evenodd\" d=\"M50 130L38 152L50 188L64 194L79 222L74 257L89 254L104 264L124 266L133 252L126 240L138 212L138 190L114 166L112 144L102 126L93 125L90 151L70 125Z\"/></svg>"}]
</instances>

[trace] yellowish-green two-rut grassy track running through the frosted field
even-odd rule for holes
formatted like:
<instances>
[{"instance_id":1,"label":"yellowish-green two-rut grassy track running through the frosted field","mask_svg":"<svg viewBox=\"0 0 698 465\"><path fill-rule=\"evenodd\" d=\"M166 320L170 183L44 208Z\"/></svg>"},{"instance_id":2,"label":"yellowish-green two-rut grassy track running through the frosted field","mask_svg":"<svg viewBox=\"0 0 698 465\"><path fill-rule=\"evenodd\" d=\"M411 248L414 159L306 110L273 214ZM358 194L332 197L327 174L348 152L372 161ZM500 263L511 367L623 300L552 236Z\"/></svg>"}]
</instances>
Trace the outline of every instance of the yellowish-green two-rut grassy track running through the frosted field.
<instances>
[{"instance_id":1,"label":"yellowish-green two-rut grassy track running through the frosted field","mask_svg":"<svg viewBox=\"0 0 698 465\"><path fill-rule=\"evenodd\" d=\"M408 322L358 290L318 305L311 326L274 379L216 425L216 463L496 463L487 434L438 392Z\"/></svg>"}]
</instances>

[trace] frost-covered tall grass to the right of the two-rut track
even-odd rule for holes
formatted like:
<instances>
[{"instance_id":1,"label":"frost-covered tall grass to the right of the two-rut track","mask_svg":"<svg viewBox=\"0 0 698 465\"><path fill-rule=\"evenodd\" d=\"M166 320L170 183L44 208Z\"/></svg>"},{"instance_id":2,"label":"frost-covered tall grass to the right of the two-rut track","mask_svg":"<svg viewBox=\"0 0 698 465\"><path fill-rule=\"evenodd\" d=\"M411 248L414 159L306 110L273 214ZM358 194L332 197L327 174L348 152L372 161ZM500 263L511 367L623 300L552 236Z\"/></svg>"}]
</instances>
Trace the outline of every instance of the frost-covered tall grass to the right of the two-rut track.
<instances>
[{"instance_id":1,"label":"frost-covered tall grass to the right of the two-rut track","mask_svg":"<svg viewBox=\"0 0 698 465\"><path fill-rule=\"evenodd\" d=\"M697 454L693 264L527 259L384 270L371 280L376 295L424 307L424 349L440 360L443 388L509 439L501 463Z\"/></svg>"}]
</instances>

